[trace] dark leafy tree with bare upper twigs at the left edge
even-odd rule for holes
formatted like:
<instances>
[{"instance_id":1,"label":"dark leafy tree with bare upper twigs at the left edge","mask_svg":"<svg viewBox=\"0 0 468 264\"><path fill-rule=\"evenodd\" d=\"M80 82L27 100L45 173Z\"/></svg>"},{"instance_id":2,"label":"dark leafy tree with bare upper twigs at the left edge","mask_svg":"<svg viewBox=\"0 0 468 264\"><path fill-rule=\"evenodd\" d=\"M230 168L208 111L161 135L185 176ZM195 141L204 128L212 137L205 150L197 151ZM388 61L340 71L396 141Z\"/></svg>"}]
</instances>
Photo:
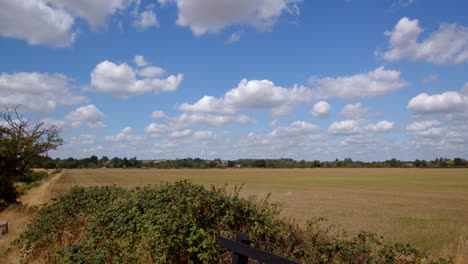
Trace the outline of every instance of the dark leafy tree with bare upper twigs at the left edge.
<instances>
[{"instance_id":1,"label":"dark leafy tree with bare upper twigs at the left edge","mask_svg":"<svg viewBox=\"0 0 468 264\"><path fill-rule=\"evenodd\" d=\"M31 123L17 109L0 113L0 208L16 201L15 181L30 173L41 155L63 142L57 127Z\"/></svg>"}]
</instances>

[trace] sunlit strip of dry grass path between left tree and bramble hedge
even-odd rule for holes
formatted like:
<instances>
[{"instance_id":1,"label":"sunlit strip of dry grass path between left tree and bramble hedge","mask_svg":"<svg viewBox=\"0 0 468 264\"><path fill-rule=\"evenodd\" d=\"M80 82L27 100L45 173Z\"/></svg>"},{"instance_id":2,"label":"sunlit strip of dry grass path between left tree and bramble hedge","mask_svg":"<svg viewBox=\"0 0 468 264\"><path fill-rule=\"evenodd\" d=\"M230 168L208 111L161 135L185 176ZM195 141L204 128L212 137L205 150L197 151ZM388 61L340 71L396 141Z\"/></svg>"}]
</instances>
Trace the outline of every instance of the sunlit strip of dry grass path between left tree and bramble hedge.
<instances>
[{"instance_id":1,"label":"sunlit strip of dry grass path between left tree and bramble hedge","mask_svg":"<svg viewBox=\"0 0 468 264\"><path fill-rule=\"evenodd\" d=\"M62 172L63 173L63 172ZM31 189L28 193L19 198L22 204L29 206L41 205L53 198L52 189L62 177L62 173L57 173L48 178L39 187Z\"/></svg>"}]
</instances>

